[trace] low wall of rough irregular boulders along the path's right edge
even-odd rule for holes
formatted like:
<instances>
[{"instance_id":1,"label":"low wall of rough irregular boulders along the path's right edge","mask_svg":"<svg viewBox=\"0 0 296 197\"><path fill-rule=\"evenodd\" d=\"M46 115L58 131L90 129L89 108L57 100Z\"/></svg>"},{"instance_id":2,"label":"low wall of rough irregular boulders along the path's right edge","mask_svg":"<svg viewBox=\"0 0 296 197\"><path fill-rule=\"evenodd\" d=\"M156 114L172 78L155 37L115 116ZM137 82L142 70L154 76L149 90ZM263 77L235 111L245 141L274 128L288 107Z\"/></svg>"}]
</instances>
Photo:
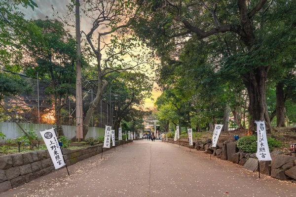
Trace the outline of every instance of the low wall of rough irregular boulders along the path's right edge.
<instances>
[{"instance_id":1,"label":"low wall of rough irregular boulders along the path's right edge","mask_svg":"<svg viewBox=\"0 0 296 197\"><path fill-rule=\"evenodd\" d=\"M168 141L166 139L162 141L179 144L179 140L174 141L172 138L168 138ZM180 139L180 145L189 147L188 144L188 140ZM270 154L272 161L259 161L258 168L256 154L250 155L240 151L236 146L236 142L224 141L218 142L216 147L211 146L211 143L201 140L193 142L191 148L212 154L212 156L219 159L242 165L245 169L251 171L258 171L260 168L260 173L262 174L280 180L292 180L292 182L296 182L296 157L294 156L282 155L281 151L274 150Z\"/></svg>"}]
</instances>

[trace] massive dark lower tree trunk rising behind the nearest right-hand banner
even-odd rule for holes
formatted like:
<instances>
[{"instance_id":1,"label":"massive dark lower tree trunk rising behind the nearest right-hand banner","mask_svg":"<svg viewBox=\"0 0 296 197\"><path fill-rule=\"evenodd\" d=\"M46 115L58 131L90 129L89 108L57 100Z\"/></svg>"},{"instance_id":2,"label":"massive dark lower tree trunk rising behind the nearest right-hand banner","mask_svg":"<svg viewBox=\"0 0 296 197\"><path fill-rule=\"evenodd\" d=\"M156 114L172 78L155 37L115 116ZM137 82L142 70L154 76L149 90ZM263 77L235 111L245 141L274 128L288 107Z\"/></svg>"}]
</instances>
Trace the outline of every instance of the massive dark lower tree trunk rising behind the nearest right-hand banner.
<instances>
[{"instance_id":1,"label":"massive dark lower tree trunk rising behind the nearest right-hand banner","mask_svg":"<svg viewBox=\"0 0 296 197\"><path fill-rule=\"evenodd\" d=\"M266 131L272 130L266 104L266 80L270 66L259 66L243 76L244 84L249 96L249 128L248 132L253 134L255 121L265 121Z\"/></svg>"}]
</instances>

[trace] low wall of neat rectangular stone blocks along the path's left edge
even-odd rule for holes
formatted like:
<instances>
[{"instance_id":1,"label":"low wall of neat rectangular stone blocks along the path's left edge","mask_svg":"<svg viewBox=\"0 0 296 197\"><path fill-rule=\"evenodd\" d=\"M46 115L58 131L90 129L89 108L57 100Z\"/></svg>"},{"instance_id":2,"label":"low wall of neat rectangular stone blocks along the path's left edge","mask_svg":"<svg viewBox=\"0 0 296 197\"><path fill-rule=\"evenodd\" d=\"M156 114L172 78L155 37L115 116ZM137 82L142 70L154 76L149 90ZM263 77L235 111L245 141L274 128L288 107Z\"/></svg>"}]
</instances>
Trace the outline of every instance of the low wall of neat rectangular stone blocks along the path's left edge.
<instances>
[{"instance_id":1,"label":"low wall of neat rectangular stone blocks along the path's left edge","mask_svg":"<svg viewBox=\"0 0 296 197\"><path fill-rule=\"evenodd\" d=\"M125 141L116 141L119 146ZM132 140L128 140L132 142ZM102 144L81 149L63 148L67 165L102 153ZM113 147L112 147L113 148ZM109 149L104 149L104 152ZM32 151L23 154L13 154L0 157L0 193L28 183L55 170L47 150Z\"/></svg>"}]
</instances>

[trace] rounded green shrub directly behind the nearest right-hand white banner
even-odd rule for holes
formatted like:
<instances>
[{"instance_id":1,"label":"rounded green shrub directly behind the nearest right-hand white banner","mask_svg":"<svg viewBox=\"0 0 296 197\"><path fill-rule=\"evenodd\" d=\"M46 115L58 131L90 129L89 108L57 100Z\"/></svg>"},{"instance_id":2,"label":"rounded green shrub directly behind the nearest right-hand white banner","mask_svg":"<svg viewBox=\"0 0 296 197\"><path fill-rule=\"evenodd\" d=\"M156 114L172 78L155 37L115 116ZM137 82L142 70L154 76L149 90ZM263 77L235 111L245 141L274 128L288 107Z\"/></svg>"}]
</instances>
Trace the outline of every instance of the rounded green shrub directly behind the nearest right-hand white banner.
<instances>
[{"instance_id":1,"label":"rounded green shrub directly behind the nearest right-hand white banner","mask_svg":"<svg viewBox=\"0 0 296 197\"><path fill-rule=\"evenodd\" d=\"M273 151L275 148L280 148L282 146L282 142L269 137L267 138L269 151ZM237 140L237 147L246 153L256 153L257 152L257 142L256 135L248 135L241 137Z\"/></svg>"}]
</instances>

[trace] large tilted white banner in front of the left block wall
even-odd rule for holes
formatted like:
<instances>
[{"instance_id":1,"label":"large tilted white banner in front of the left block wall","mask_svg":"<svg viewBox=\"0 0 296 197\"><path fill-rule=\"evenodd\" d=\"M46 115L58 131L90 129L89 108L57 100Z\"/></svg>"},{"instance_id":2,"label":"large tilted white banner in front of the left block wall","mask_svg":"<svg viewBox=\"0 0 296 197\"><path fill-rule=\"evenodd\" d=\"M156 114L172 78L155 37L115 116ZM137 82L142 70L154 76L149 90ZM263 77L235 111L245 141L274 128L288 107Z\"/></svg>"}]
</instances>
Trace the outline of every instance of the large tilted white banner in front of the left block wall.
<instances>
[{"instance_id":1,"label":"large tilted white banner in front of the left block wall","mask_svg":"<svg viewBox=\"0 0 296 197\"><path fill-rule=\"evenodd\" d=\"M58 138L53 129L40 131L40 134L44 140L46 148L49 152L54 168L58 169L63 167L65 164L61 147L59 146Z\"/></svg>"}]
</instances>

